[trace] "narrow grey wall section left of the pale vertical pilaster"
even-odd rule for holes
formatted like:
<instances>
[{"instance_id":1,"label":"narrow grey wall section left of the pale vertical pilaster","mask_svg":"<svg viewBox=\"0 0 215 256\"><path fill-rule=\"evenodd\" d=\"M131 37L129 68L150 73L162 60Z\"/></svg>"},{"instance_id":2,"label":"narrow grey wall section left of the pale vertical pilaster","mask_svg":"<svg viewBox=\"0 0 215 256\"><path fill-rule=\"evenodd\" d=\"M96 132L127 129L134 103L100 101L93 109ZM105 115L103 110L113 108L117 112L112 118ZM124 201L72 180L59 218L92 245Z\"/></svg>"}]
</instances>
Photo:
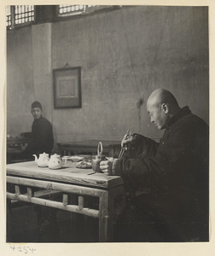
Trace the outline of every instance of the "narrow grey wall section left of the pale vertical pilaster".
<instances>
[{"instance_id":1,"label":"narrow grey wall section left of the pale vertical pilaster","mask_svg":"<svg viewBox=\"0 0 215 256\"><path fill-rule=\"evenodd\" d=\"M7 132L11 136L31 131L33 101L32 28L7 35Z\"/></svg>"}]
</instances>

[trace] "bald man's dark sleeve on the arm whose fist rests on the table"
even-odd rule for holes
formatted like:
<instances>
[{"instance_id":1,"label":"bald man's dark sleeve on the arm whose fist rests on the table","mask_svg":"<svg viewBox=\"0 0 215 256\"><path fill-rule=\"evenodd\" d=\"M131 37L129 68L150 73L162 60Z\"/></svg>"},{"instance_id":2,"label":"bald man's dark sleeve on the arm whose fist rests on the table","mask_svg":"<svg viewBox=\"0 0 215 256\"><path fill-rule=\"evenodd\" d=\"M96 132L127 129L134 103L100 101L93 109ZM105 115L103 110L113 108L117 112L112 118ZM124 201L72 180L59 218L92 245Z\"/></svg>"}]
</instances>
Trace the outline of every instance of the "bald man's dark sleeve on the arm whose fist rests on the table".
<instances>
[{"instance_id":1,"label":"bald man's dark sleeve on the arm whose fist rests on the table","mask_svg":"<svg viewBox=\"0 0 215 256\"><path fill-rule=\"evenodd\" d=\"M188 155L192 154L190 150L192 141L192 135L186 129L179 129L171 134L168 143L162 143L161 140L158 150L154 150L153 144L145 143L142 154L119 160L115 166L115 172L117 175L126 177L142 177L150 174L152 177L160 178L160 175L170 172L173 165L179 165L179 160L187 161ZM146 148L150 154L144 153Z\"/></svg>"}]
</instances>

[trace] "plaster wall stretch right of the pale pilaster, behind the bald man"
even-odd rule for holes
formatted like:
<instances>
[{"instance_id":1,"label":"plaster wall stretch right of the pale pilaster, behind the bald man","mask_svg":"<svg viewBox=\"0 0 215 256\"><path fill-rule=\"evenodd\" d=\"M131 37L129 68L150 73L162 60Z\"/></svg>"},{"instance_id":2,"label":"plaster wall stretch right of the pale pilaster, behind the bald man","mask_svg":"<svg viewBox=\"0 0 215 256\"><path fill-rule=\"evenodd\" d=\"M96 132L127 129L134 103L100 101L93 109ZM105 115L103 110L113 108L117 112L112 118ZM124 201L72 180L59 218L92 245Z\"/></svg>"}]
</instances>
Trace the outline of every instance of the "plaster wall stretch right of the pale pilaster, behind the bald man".
<instances>
[{"instance_id":1,"label":"plaster wall stretch right of the pale pilaster, behind the bald man","mask_svg":"<svg viewBox=\"0 0 215 256\"><path fill-rule=\"evenodd\" d=\"M83 107L53 110L58 140L119 139L128 128L159 138L146 111L157 88L208 122L207 46L206 8L131 7L53 24L53 68L82 67Z\"/></svg>"}]
</instances>

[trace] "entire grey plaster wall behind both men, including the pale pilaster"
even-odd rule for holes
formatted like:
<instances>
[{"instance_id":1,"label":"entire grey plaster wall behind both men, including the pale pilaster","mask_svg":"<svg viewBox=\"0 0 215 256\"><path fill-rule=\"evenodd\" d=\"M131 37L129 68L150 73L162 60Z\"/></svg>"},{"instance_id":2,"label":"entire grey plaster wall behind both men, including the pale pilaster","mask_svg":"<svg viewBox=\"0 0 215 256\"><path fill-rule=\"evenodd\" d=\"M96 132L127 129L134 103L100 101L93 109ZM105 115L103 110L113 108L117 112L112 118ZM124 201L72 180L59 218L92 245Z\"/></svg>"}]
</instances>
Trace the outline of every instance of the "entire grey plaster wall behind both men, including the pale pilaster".
<instances>
[{"instance_id":1,"label":"entire grey plaster wall behind both men, including the pale pilaster","mask_svg":"<svg viewBox=\"0 0 215 256\"><path fill-rule=\"evenodd\" d=\"M55 143L120 140L128 128L158 139L146 111L157 88L208 123L207 18L206 7L139 6L8 32L8 133L29 130L37 99ZM82 108L54 109L52 69L66 63L82 68Z\"/></svg>"}]
</instances>

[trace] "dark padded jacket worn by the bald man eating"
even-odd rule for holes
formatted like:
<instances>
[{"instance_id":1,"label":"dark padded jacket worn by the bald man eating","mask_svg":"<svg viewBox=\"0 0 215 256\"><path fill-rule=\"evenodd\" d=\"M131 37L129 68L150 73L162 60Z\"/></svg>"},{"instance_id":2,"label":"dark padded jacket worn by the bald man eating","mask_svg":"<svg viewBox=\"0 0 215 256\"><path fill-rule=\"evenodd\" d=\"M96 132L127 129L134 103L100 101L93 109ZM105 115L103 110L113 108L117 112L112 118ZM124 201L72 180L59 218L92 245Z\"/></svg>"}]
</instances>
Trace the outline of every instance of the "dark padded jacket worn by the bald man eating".
<instances>
[{"instance_id":1,"label":"dark padded jacket worn by the bald man eating","mask_svg":"<svg viewBox=\"0 0 215 256\"><path fill-rule=\"evenodd\" d=\"M207 224L209 127L188 107L169 120L160 143L137 135L116 171L125 181L150 187L160 219Z\"/></svg>"}]
</instances>

